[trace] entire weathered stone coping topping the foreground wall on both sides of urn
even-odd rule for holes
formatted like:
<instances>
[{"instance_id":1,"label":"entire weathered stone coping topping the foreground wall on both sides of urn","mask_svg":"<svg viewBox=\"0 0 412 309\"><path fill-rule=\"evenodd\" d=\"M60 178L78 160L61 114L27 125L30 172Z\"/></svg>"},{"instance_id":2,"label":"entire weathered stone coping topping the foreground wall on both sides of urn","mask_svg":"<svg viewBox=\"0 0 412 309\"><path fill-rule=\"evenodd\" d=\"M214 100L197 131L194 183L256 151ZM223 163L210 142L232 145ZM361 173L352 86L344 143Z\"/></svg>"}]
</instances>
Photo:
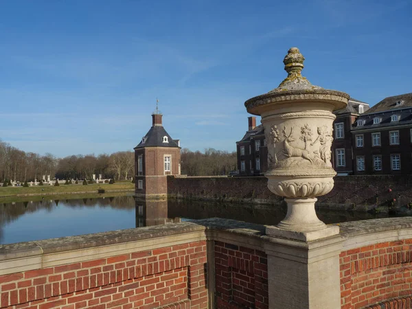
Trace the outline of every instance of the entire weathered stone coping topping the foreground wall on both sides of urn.
<instances>
[{"instance_id":1,"label":"entire weathered stone coping topping the foreground wall on both sides of urn","mask_svg":"<svg viewBox=\"0 0 412 309\"><path fill-rule=\"evenodd\" d=\"M412 217L359 220L342 222L336 225L339 225L340 227L339 236L343 238L343 240L347 240L350 238L358 238L359 236L367 234L385 233L388 231L398 231L400 229L412 229ZM207 230L236 234L239 237L247 236L249 238L260 239L264 242L277 242L285 244L290 242L290 240L287 239L278 239L271 236L266 236L265 225L257 225L222 218L209 218L204 220L188 220L187 222L170 223L167 225L157 225L154 227L139 227L137 229L124 229L81 236L69 236L32 242L3 244L0 245L0 261L12 260L15 258L27 258L35 255L44 255L63 251L108 246L113 244L122 244L139 240L149 240L153 238L162 238L165 236L175 236L179 234ZM296 241L293 242L296 243ZM375 239L375 242L378 242L378 238ZM303 247L306 247L307 244L310 243L302 242Z\"/></svg>"}]
</instances>

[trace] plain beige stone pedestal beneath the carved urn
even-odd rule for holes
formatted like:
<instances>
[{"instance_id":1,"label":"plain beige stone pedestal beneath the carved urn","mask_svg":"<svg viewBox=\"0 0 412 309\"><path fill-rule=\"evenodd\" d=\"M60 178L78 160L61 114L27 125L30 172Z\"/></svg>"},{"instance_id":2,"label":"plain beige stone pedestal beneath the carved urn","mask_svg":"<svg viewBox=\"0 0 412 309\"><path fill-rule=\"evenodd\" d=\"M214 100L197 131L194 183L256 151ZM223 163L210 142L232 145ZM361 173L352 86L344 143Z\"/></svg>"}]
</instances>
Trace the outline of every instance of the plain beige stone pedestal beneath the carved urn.
<instances>
[{"instance_id":1,"label":"plain beige stone pedestal beneath the carved urn","mask_svg":"<svg viewBox=\"0 0 412 309\"><path fill-rule=\"evenodd\" d=\"M272 238L268 256L269 308L341 308L339 236L302 242Z\"/></svg>"}]
</instances>

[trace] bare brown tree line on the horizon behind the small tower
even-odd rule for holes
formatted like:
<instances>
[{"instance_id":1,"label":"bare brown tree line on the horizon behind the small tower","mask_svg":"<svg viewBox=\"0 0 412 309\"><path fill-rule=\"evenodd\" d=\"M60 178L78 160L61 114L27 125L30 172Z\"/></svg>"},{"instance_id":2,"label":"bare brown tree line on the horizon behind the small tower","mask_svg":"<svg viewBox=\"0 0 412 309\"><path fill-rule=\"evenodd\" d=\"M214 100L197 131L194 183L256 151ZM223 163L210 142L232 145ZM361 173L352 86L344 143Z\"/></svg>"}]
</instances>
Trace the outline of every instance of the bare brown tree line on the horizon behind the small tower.
<instances>
[{"instance_id":1,"label":"bare brown tree line on the horizon behind the small tower","mask_svg":"<svg viewBox=\"0 0 412 309\"><path fill-rule=\"evenodd\" d=\"M181 150L181 174L188 176L228 175L236 170L236 152L213 148L205 152ZM71 155L56 158L51 153L38 155L24 152L0 141L0 182L38 181L50 175L51 179L92 179L93 174L103 179L130 179L134 174L135 155L119 151L111 155ZM46 180L46 179L45 179Z\"/></svg>"}]
</instances>

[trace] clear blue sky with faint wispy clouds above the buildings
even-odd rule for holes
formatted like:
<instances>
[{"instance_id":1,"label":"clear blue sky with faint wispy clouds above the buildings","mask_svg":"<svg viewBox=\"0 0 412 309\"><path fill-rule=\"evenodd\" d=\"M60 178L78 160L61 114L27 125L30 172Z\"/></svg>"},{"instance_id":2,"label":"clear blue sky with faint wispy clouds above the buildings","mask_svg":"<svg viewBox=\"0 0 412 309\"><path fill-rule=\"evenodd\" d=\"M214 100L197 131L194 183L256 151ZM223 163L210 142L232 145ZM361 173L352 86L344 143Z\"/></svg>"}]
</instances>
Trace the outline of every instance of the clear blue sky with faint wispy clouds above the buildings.
<instances>
[{"instance_id":1,"label":"clear blue sky with faint wispy clouds above the buildings","mask_svg":"<svg viewBox=\"0 0 412 309\"><path fill-rule=\"evenodd\" d=\"M1 1L0 139L57 157L132 150L163 125L233 151L244 101L278 86L290 47L312 84L376 104L412 92L412 2Z\"/></svg>"}]
</instances>

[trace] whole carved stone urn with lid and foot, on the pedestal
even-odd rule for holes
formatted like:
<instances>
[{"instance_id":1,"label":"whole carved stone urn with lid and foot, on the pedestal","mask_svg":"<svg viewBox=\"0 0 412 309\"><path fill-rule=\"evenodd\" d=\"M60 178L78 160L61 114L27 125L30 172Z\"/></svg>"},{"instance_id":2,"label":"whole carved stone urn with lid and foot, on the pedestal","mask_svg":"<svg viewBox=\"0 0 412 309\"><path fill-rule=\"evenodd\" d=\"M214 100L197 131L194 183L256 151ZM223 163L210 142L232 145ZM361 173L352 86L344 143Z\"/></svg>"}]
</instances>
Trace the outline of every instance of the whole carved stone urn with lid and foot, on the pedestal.
<instances>
[{"instance_id":1,"label":"whole carved stone urn with lid and foot, on the pedestal","mask_svg":"<svg viewBox=\"0 0 412 309\"><path fill-rule=\"evenodd\" d=\"M288 77L244 105L249 113L262 116L268 188L288 204L284 220L266 233L308 241L339 233L339 227L328 227L317 218L314 203L334 185L332 111L345 107L350 96L310 84L301 76L304 60L299 49L290 48L284 58Z\"/></svg>"}]
</instances>

